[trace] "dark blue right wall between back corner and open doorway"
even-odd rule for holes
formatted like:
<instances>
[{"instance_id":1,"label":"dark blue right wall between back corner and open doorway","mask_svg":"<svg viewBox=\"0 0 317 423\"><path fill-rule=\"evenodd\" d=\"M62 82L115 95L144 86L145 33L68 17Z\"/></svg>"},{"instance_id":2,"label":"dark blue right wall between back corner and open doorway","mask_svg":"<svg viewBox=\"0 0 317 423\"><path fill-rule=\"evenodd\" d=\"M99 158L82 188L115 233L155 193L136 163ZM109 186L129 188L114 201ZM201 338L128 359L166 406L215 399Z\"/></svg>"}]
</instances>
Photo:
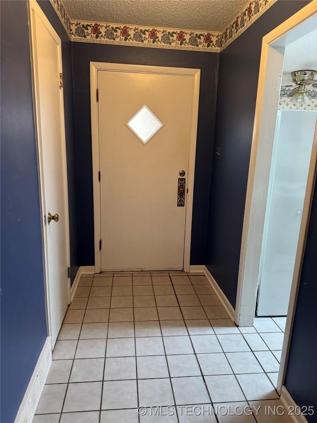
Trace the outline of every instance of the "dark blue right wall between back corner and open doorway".
<instances>
[{"instance_id":1,"label":"dark blue right wall between back corner and open doorway","mask_svg":"<svg viewBox=\"0 0 317 423\"><path fill-rule=\"evenodd\" d=\"M308 3L277 1L220 53L206 265L233 306L262 38Z\"/></svg>"}]
</instances>

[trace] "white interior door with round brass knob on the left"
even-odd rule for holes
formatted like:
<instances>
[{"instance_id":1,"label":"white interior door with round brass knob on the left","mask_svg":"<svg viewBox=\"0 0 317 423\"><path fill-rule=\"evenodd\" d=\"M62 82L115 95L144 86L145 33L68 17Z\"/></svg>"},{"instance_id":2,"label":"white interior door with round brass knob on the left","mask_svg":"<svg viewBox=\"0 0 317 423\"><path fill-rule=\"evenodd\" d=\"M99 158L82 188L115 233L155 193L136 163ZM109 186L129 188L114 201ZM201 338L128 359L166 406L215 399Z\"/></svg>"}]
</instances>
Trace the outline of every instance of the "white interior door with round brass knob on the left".
<instances>
[{"instance_id":1,"label":"white interior door with round brass knob on the left","mask_svg":"<svg viewBox=\"0 0 317 423\"><path fill-rule=\"evenodd\" d=\"M38 129L49 331L54 346L69 303L69 218L61 42L37 3L31 2L36 120ZM58 215L49 223L48 214Z\"/></svg>"}]
</instances>

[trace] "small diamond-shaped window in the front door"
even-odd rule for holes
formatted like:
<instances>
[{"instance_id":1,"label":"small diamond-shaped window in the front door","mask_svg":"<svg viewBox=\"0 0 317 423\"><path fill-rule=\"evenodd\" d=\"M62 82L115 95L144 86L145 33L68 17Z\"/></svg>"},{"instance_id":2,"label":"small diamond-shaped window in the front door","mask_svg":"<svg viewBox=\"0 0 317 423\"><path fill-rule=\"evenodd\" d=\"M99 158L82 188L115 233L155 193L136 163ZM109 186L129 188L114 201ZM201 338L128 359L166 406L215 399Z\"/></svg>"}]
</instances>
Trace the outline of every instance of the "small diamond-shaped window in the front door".
<instances>
[{"instance_id":1,"label":"small diamond-shaped window in the front door","mask_svg":"<svg viewBox=\"0 0 317 423\"><path fill-rule=\"evenodd\" d=\"M149 108L143 106L126 123L126 126L139 138L143 145L146 145L164 125Z\"/></svg>"}]
</instances>

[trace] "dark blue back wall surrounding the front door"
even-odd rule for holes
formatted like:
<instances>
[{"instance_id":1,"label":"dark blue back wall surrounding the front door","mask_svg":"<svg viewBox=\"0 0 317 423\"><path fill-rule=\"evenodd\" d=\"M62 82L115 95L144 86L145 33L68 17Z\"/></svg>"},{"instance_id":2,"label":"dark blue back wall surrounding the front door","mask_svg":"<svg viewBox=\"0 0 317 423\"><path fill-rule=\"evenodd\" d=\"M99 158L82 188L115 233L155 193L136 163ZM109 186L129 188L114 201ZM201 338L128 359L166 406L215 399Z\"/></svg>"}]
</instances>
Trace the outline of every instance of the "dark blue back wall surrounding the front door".
<instances>
[{"instance_id":1,"label":"dark blue back wall surrounding the front door","mask_svg":"<svg viewBox=\"0 0 317 423\"><path fill-rule=\"evenodd\" d=\"M146 49L141 47L122 47L93 43L73 43L74 110L81 265L94 265L95 263L89 85L90 61L193 67L201 69L191 264L203 264L206 254L218 54Z\"/></svg>"}]
</instances>

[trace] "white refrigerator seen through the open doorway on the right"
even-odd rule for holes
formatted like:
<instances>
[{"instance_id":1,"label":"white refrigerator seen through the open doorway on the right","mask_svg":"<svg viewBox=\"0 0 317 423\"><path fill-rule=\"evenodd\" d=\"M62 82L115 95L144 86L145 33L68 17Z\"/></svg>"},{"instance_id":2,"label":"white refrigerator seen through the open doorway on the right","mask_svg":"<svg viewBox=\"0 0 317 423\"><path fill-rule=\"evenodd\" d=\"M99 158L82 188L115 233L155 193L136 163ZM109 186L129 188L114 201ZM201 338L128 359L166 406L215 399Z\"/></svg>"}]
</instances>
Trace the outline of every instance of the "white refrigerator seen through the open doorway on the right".
<instances>
[{"instance_id":1,"label":"white refrigerator seen through the open doorway on the right","mask_svg":"<svg viewBox=\"0 0 317 423\"><path fill-rule=\"evenodd\" d=\"M258 316L285 316L317 111L279 110L259 269Z\"/></svg>"}]
</instances>

